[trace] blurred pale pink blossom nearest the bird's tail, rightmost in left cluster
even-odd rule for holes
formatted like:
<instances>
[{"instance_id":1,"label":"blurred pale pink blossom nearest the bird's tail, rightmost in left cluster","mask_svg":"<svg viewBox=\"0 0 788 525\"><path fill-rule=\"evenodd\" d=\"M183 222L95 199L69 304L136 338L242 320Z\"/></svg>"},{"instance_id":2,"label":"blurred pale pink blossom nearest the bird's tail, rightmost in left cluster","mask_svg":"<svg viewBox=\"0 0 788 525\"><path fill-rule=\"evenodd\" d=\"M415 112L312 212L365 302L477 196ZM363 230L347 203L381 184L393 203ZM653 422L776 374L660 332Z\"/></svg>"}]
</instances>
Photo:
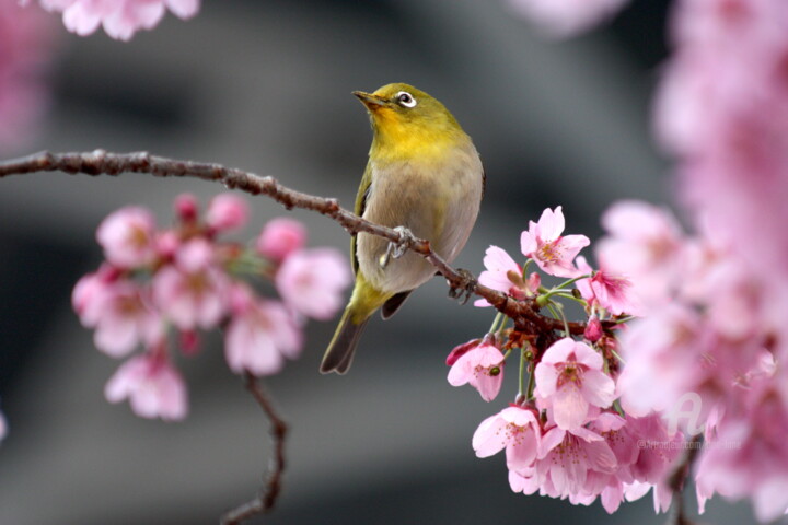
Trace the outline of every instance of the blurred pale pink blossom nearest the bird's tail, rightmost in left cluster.
<instances>
[{"instance_id":1,"label":"blurred pale pink blossom nearest the bird's tail, rightmost in left cluster","mask_svg":"<svg viewBox=\"0 0 788 525\"><path fill-rule=\"evenodd\" d=\"M288 306L315 319L329 319L343 305L350 283L345 258L332 248L300 249L285 259L276 287Z\"/></svg>"}]
</instances>

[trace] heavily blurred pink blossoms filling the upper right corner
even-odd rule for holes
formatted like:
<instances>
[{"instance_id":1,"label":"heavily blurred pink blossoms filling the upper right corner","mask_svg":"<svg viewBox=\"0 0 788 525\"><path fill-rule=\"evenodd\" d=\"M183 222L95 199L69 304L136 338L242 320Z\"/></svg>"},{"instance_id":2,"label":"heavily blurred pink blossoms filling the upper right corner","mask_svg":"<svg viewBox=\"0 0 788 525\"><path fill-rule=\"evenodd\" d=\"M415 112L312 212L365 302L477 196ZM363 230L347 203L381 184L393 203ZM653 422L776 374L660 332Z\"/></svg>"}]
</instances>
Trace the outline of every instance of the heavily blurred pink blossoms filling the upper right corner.
<instances>
[{"instance_id":1,"label":"heavily blurred pink blossoms filling the upper right corner","mask_svg":"<svg viewBox=\"0 0 788 525\"><path fill-rule=\"evenodd\" d=\"M727 232L749 268L788 280L787 25L780 0L679 2L654 120L696 221Z\"/></svg>"}]
</instances>

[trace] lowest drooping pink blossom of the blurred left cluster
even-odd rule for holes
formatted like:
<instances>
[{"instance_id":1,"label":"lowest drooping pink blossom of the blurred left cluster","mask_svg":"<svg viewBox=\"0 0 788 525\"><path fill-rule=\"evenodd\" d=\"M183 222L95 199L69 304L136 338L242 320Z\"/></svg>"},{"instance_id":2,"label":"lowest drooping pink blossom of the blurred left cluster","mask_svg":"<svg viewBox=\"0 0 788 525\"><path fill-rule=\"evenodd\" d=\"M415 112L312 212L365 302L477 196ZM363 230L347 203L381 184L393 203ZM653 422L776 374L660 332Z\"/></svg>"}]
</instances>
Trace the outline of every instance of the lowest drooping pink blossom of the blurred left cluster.
<instances>
[{"instance_id":1,"label":"lowest drooping pink blossom of the blurred left cluster","mask_svg":"<svg viewBox=\"0 0 788 525\"><path fill-rule=\"evenodd\" d=\"M126 361L109 378L104 395L109 402L128 399L131 410L142 418L181 420L188 410L181 373L158 352Z\"/></svg>"}]
</instances>

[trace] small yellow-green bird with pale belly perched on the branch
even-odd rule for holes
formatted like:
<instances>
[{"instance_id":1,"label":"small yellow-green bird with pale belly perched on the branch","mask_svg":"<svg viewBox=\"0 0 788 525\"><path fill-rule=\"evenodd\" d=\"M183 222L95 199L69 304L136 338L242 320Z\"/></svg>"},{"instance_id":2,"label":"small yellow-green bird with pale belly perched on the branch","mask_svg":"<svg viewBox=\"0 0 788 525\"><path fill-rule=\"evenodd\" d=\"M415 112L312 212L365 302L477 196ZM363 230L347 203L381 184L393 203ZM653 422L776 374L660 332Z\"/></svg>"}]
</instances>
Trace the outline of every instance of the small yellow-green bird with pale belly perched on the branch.
<instances>
[{"instance_id":1,"label":"small yellow-green bird with pale belly perched on the branch","mask_svg":"<svg viewBox=\"0 0 788 525\"><path fill-rule=\"evenodd\" d=\"M471 137L443 104L412 85L354 95L367 106L373 131L356 214L396 228L404 237L429 241L451 262L471 235L484 192L484 168ZM352 236L350 259L356 285L323 357L324 374L347 372L372 314L382 308L387 319L436 273L421 256L368 233Z\"/></svg>"}]
</instances>

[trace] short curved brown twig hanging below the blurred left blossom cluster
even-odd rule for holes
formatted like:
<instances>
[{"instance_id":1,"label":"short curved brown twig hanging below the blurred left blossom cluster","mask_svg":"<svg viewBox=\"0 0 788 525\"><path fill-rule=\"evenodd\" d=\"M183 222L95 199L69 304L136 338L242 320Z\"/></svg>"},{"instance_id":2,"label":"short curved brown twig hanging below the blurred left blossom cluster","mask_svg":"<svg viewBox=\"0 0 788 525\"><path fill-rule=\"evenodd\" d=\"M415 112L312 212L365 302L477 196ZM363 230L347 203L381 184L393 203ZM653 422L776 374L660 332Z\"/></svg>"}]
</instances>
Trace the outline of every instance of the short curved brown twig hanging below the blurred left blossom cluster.
<instances>
[{"instance_id":1,"label":"short curved brown twig hanging below the blurred left blossom cluster","mask_svg":"<svg viewBox=\"0 0 788 525\"><path fill-rule=\"evenodd\" d=\"M265 514L274 508L274 504L281 491L281 478L285 472L285 439L287 438L287 423L277 415L268 395L263 389L259 380L246 372L245 374L246 389L252 393L257 404L263 408L266 417L270 421L271 440L274 441L274 454L268 466L268 480L260 488L259 493L247 501L228 512L221 517L222 525L237 525L244 520Z\"/></svg>"}]
</instances>

